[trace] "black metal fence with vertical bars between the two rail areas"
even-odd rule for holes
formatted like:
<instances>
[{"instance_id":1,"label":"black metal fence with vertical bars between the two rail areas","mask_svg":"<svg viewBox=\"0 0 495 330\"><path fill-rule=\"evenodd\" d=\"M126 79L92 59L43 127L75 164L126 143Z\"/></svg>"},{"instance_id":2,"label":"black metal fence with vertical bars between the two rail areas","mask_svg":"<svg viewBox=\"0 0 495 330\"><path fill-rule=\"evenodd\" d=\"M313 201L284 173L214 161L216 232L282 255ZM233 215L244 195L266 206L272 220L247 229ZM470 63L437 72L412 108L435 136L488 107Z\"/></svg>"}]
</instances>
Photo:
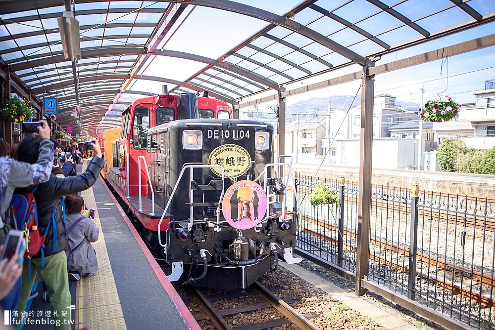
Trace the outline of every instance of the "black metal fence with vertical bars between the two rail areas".
<instances>
[{"instance_id":1,"label":"black metal fence with vertical bars between the two rail areas","mask_svg":"<svg viewBox=\"0 0 495 330\"><path fill-rule=\"evenodd\" d=\"M335 190L340 203L311 206L316 184ZM357 182L299 175L296 189L298 250L355 279ZM495 201L373 185L370 203L368 281L434 321L495 328Z\"/></svg>"}]
</instances>

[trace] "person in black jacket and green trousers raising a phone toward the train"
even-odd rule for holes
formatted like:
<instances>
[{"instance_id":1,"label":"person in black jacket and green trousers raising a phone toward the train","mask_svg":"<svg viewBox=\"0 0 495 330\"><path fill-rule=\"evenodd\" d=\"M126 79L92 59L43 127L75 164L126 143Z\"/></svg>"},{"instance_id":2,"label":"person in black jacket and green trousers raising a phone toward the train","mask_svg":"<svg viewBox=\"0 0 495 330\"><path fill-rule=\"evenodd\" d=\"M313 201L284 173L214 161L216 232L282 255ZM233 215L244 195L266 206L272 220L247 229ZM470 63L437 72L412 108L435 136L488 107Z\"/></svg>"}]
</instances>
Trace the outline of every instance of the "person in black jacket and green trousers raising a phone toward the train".
<instances>
[{"instance_id":1,"label":"person in black jacket and green trousers raising a phone toward the train","mask_svg":"<svg viewBox=\"0 0 495 330\"><path fill-rule=\"evenodd\" d=\"M38 156L32 150L38 150L37 143L39 140L36 138L30 139L26 143L23 140L19 145L19 160L31 164L36 163ZM46 235L44 257L40 251L31 258L31 278L29 278L28 267L24 267L22 272L22 291L17 304L17 313L20 315L21 311L25 310L36 274L39 272L48 286L51 308L53 311L57 311L58 316L54 317L55 324L60 324L60 327L55 327L57 330L71 329L70 314L65 313L67 306L71 304L71 298L67 276L67 256L64 251L69 245L65 233L61 198L86 190L95 184L104 162L96 140L94 140L94 148L96 155L88 164L86 172L63 179L51 174L49 180L40 184L34 193L38 206L39 230L41 233L45 233L47 227L49 230Z\"/></svg>"}]
</instances>

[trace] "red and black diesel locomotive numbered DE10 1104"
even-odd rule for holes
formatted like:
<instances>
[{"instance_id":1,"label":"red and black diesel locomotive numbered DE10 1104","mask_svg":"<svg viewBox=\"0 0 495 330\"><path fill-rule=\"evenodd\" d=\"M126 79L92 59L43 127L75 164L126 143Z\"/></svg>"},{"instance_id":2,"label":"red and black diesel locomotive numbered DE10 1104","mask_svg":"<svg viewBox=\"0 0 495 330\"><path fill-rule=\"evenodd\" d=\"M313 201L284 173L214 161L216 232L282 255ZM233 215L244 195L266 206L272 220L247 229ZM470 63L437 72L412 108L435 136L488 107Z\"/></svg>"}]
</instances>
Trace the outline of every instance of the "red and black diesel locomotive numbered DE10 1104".
<instances>
[{"instance_id":1,"label":"red and black diesel locomotive numbered DE10 1104","mask_svg":"<svg viewBox=\"0 0 495 330\"><path fill-rule=\"evenodd\" d=\"M279 257L300 261L290 165L275 159L273 133L233 119L225 102L186 93L138 99L116 138L99 136L106 181L170 265L170 281L245 289Z\"/></svg>"}]
</instances>

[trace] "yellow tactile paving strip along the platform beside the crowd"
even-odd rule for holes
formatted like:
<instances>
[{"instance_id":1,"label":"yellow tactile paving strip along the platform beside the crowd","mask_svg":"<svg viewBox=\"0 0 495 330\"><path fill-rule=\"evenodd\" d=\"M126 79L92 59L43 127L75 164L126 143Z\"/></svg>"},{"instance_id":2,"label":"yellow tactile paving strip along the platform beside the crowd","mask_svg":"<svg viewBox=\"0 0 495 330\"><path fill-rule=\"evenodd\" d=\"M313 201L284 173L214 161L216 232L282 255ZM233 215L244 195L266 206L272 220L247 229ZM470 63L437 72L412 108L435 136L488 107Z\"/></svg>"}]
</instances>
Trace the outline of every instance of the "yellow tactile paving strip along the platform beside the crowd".
<instances>
[{"instance_id":1,"label":"yellow tactile paving strip along the platform beside the crowd","mask_svg":"<svg viewBox=\"0 0 495 330\"><path fill-rule=\"evenodd\" d=\"M82 192L81 197L84 198L87 208L96 210L95 223L99 228L99 238L92 245L96 250L98 271L89 276L81 276L81 280L77 283L75 329L88 327L91 330L126 330L93 188Z\"/></svg>"}]
</instances>

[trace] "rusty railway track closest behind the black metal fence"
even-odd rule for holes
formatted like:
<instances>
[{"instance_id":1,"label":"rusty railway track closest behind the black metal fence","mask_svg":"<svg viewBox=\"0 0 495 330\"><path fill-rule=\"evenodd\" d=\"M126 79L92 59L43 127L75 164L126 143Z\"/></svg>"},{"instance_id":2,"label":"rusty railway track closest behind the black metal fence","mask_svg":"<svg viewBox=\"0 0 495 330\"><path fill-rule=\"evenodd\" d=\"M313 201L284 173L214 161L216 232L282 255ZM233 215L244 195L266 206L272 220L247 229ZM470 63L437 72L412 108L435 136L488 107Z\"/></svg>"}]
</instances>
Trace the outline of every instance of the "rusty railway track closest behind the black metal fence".
<instances>
[{"instance_id":1,"label":"rusty railway track closest behind the black metal fence","mask_svg":"<svg viewBox=\"0 0 495 330\"><path fill-rule=\"evenodd\" d=\"M319 226L320 228L324 228L326 230L338 231L338 227L329 223L325 223L321 220L312 219L306 216L302 217L303 220L306 220L308 224ZM325 235L321 232L315 231L315 228L307 228L303 224L301 224L301 230L304 233L317 237L321 240L325 240L331 242L335 245L338 244L338 240ZM356 237L356 233L349 229L344 229L344 234L349 237ZM379 239L370 238L370 244L379 247L385 248L391 252L390 259L386 256L375 254L370 248L370 259L374 260L378 263L385 264L386 266L395 269L401 272L408 271L409 265L409 256L410 252L406 248L402 248L396 246L391 243L383 242ZM343 242L343 247L348 251L356 251L356 248L346 242ZM399 262L399 259L402 259ZM418 263L423 263L426 267L420 267L421 271L417 273L423 279L428 281L435 281L439 283L444 289L450 291L452 294L461 294L464 297L470 299L471 301L480 304L483 307L492 307L494 306L495 296L487 295L483 293L482 290L474 290L473 286L481 284L485 284L493 287L495 284L495 280L493 277L482 274L473 269L465 268L462 266L454 265L453 263L443 261L441 259L432 257L430 255L424 255L422 253L416 254L416 260ZM430 270L430 266L434 266L434 270ZM457 281L454 281L457 279ZM460 282L460 285L459 285ZM467 285L464 285L466 283Z\"/></svg>"}]
</instances>

